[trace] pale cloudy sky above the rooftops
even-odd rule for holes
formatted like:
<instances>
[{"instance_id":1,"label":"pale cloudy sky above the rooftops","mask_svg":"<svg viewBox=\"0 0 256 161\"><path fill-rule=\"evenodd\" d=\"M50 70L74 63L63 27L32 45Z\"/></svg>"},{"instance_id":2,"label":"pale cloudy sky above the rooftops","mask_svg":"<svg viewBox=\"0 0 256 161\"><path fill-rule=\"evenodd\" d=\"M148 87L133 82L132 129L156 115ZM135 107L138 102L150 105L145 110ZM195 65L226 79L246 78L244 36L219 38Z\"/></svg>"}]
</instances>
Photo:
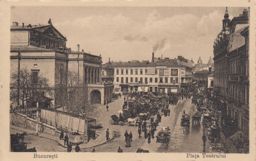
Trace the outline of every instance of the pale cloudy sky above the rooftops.
<instances>
[{"instance_id":1,"label":"pale cloudy sky above the rooftops","mask_svg":"<svg viewBox=\"0 0 256 161\"><path fill-rule=\"evenodd\" d=\"M228 7L229 19L244 8ZM67 47L111 61L183 56L197 63L213 57L225 7L12 6L11 22L52 25L67 37Z\"/></svg>"}]
</instances>

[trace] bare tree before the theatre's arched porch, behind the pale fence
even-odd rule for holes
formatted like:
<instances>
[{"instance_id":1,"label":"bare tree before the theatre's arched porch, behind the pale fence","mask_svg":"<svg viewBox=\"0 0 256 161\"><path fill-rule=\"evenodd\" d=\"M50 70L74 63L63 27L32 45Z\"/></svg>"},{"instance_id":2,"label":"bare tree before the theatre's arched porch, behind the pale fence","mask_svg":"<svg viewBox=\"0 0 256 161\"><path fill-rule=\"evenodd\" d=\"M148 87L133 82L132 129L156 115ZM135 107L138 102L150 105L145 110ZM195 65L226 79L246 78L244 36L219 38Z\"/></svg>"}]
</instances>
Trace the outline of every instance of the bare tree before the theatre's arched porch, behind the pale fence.
<instances>
[{"instance_id":1,"label":"bare tree before the theatre's arched porch, behind the pale fence","mask_svg":"<svg viewBox=\"0 0 256 161\"><path fill-rule=\"evenodd\" d=\"M60 86L60 92L63 93L62 97L58 97L59 101L62 104L65 102L65 105L61 105L63 107L63 111L77 114L83 116L84 118L99 117L99 105L91 104L88 100L88 87L86 84L81 83L83 80L79 77L77 72L68 71L67 73L67 84L62 84ZM67 95L64 96L64 91L66 91ZM90 98L94 99L94 98ZM64 108L66 107L66 108Z\"/></svg>"}]
</instances>

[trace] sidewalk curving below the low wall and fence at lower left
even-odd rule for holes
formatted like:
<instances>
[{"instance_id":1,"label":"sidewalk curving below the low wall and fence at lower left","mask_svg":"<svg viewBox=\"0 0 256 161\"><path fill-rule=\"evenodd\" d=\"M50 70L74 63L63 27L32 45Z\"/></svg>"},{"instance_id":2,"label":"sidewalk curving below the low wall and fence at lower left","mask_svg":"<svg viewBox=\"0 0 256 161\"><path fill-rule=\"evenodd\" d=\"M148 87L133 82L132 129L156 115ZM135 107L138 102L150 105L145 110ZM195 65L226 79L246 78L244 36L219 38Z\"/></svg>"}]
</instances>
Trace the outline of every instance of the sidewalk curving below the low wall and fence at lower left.
<instances>
[{"instance_id":1,"label":"sidewalk curving below the low wall and fence at lower left","mask_svg":"<svg viewBox=\"0 0 256 161\"><path fill-rule=\"evenodd\" d=\"M17 127L14 125L10 125L10 128L14 129L14 130L18 130L20 132L26 132L27 135L36 135L36 132L33 130L29 130L26 128L22 128L22 127ZM58 136L55 135L51 135L51 134L47 134L47 133L38 133L38 135L36 135L38 137L44 137L45 139L50 139L51 141L56 141L60 146L67 148L67 146L64 146L64 141L60 140L60 138ZM112 141L113 138L110 138L109 141ZM83 143L83 144L79 144L81 149L88 149L88 148L93 148L95 146L100 146L102 144L106 144L106 137L105 135L99 135L99 137L97 137L95 140L90 140L87 143Z\"/></svg>"}]
</instances>

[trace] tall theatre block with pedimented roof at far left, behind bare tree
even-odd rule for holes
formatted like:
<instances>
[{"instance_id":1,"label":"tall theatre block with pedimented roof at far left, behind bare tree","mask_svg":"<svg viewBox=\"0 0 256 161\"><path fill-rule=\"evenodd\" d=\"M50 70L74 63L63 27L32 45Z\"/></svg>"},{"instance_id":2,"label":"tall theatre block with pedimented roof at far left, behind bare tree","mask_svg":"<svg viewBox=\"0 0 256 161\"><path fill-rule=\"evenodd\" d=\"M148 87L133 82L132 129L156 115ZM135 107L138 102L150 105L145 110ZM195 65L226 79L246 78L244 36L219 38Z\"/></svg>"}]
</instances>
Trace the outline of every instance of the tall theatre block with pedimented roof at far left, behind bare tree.
<instances>
[{"instance_id":1,"label":"tall theatre block with pedimented roof at far left, behind bare tree","mask_svg":"<svg viewBox=\"0 0 256 161\"><path fill-rule=\"evenodd\" d=\"M19 26L18 22L13 22L10 29L11 74L26 68L32 72L35 82L38 75L49 79L49 90L53 96L47 98L49 96L45 95L45 102L38 102L40 107L54 107L59 104L58 87L66 83L67 73L67 39L52 26L51 20L48 23L33 26L24 26L22 23L22 26ZM10 88L15 87L11 84Z\"/></svg>"}]
</instances>

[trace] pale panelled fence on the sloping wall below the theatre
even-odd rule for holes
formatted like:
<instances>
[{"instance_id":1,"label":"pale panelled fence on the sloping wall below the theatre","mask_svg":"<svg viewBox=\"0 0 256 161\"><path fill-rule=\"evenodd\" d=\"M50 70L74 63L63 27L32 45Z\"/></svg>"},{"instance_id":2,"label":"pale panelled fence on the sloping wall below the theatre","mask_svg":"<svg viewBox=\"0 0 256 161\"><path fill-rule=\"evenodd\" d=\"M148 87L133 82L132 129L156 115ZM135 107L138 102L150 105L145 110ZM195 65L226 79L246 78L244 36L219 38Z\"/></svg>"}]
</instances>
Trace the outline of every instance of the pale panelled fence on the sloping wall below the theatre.
<instances>
[{"instance_id":1,"label":"pale panelled fence on the sloping wall below the theatre","mask_svg":"<svg viewBox=\"0 0 256 161\"><path fill-rule=\"evenodd\" d=\"M87 135L88 121L86 119L76 118L61 112L49 111L45 109L41 109L40 119L42 123L60 128L61 130Z\"/></svg>"}]
</instances>

